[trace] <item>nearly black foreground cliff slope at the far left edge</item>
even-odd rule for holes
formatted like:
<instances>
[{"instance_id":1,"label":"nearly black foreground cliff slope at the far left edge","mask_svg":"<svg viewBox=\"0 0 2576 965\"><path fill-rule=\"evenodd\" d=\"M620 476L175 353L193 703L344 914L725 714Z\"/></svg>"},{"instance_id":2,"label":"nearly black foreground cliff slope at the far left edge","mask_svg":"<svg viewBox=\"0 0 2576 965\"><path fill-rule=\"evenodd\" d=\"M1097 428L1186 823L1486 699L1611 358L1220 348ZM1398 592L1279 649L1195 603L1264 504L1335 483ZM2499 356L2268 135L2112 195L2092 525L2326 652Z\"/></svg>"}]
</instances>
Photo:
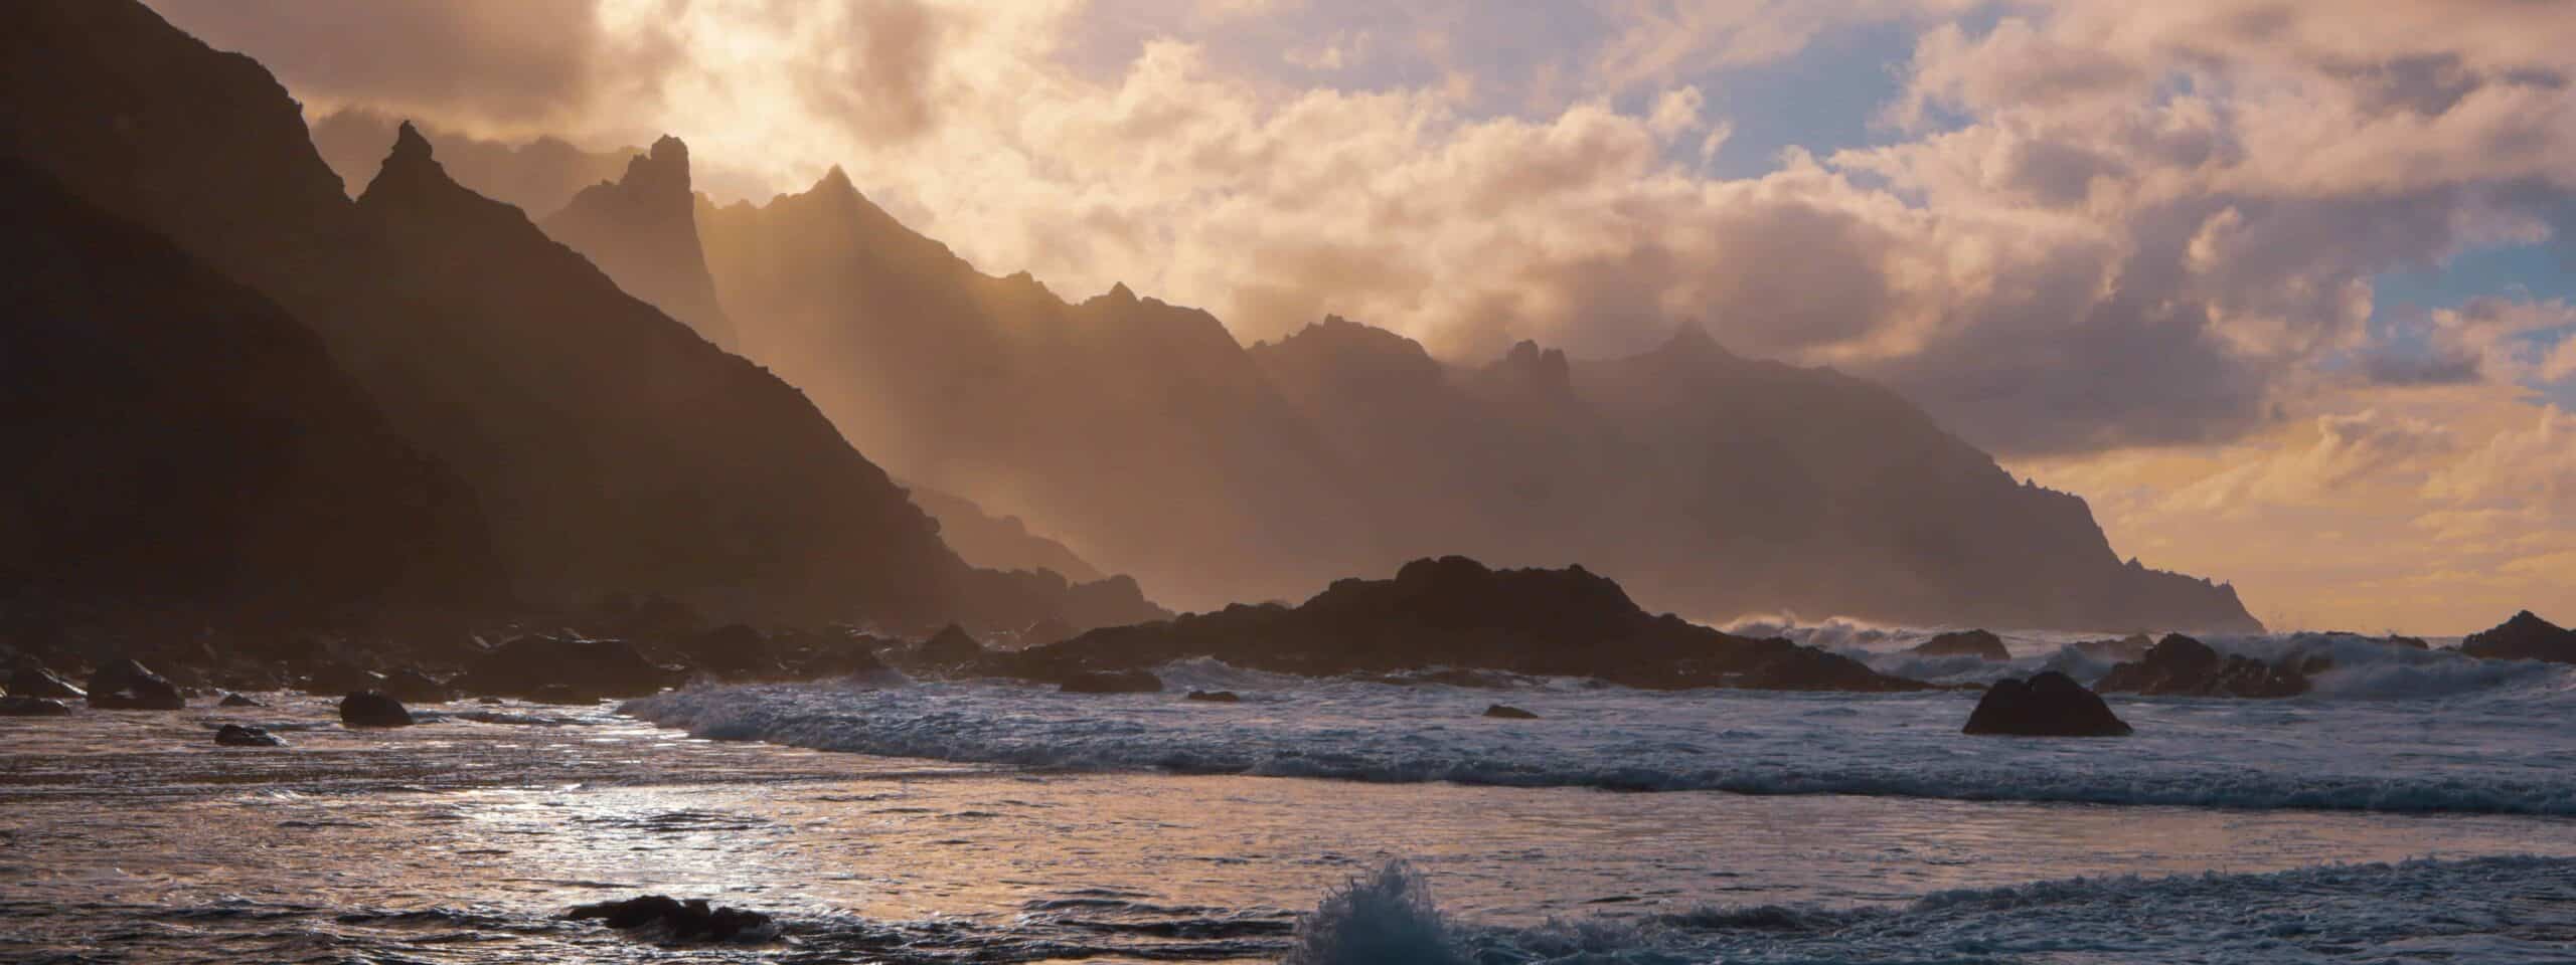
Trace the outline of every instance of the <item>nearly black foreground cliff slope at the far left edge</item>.
<instances>
[{"instance_id":1,"label":"nearly black foreground cliff slope at the far left edge","mask_svg":"<svg viewBox=\"0 0 2576 965\"><path fill-rule=\"evenodd\" d=\"M505 602L464 481L273 301L0 157L0 610Z\"/></svg>"}]
</instances>

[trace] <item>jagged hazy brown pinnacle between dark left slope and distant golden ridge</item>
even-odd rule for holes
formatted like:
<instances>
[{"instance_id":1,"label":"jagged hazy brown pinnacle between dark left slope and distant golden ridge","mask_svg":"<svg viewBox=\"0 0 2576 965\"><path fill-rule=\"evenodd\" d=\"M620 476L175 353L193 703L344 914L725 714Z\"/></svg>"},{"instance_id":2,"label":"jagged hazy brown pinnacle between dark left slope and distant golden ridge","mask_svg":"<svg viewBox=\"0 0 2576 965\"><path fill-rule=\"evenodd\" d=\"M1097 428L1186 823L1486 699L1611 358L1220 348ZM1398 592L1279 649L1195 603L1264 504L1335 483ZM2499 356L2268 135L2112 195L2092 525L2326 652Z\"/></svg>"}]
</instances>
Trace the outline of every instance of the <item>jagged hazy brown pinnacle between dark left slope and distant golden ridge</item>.
<instances>
[{"instance_id":1,"label":"jagged hazy brown pinnacle between dark left slope and distant golden ridge","mask_svg":"<svg viewBox=\"0 0 2576 965\"><path fill-rule=\"evenodd\" d=\"M665 136L626 162L621 180L572 196L538 226L590 257L626 293L652 301L698 337L734 350L734 324L716 304L716 280L698 247L698 201L688 185L688 144Z\"/></svg>"}]
</instances>

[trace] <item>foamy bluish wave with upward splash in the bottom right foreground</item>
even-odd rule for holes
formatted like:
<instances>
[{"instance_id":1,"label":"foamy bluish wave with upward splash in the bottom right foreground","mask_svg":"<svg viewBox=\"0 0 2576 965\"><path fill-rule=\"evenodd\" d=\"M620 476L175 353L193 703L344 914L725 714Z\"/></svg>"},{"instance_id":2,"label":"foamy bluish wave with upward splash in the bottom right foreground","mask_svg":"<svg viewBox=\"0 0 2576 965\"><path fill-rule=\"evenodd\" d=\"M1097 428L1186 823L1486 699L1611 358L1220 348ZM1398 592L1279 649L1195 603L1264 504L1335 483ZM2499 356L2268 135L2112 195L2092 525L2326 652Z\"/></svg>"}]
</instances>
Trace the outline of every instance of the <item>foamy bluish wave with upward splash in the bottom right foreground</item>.
<instances>
[{"instance_id":1,"label":"foamy bluish wave with upward splash in the bottom right foreground","mask_svg":"<svg viewBox=\"0 0 2576 965\"><path fill-rule=\"evenodd\" d=\"M1288 962L2563 962L2576 862L2488 857L2272 875L2076 878L1896 908L1721 906L1458 924L1391 865L1298 924ZM1391 955L1391 952L1409 955Z\"/></svg>"}]
</instances>

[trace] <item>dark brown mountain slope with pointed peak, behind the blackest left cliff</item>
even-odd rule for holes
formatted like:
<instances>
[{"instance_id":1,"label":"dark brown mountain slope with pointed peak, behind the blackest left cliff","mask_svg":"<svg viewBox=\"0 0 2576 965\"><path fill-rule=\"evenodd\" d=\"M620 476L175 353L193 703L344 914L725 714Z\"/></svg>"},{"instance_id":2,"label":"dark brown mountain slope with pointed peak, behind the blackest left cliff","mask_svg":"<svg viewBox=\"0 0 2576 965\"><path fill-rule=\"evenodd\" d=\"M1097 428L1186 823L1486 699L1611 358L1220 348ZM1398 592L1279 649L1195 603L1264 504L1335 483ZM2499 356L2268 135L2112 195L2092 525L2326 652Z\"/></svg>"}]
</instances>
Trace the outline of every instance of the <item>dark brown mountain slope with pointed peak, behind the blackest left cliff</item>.
<instances>
[{"instance_id":1,"label":"dark brown mountain slope with pointed peak, behind the blackest left cliff","mask_svg":"<svg viewBox=\"0 0 2576 965\"><path fill-rule=\"evenodd\" d=\"M361 201L252 59L131 0L0 5L0 152L157 229L330 345L482 502L536 605L662 592L773 620L1077 625L1133 584L969 569L768 371L618 291L404 129Z\"/></svg>"}]
</instances>

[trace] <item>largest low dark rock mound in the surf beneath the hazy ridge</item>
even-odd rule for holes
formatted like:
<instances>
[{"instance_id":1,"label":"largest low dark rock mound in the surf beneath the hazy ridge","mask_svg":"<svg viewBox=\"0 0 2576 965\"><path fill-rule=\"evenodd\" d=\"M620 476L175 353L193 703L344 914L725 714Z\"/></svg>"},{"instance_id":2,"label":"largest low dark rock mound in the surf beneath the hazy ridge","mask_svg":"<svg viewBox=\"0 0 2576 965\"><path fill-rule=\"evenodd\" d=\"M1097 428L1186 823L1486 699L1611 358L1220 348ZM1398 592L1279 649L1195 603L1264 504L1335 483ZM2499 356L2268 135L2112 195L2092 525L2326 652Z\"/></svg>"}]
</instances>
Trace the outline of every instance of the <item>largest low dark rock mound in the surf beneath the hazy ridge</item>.
<instances>
[{"instance_id":1,"label":"largest low dark rock mound in the surf beneath the hazy ridge","mask_svg":"<svg viewBox=\"0 0 2576 965\"><path fill-rule=\"evenodd\" d=\"M1574 569L1486 569L1463 556L1404 564L1396 579L1342 579L1298 607L1226 607L1105 628L994 656L1025 679L1149 669L1213 656L1231 666L1373 677L1435 666L1600 677L1625 687L1927 690L1790 641L1741 638L1646 615L1610 579Z\"/></svg>"}]
</instances>

